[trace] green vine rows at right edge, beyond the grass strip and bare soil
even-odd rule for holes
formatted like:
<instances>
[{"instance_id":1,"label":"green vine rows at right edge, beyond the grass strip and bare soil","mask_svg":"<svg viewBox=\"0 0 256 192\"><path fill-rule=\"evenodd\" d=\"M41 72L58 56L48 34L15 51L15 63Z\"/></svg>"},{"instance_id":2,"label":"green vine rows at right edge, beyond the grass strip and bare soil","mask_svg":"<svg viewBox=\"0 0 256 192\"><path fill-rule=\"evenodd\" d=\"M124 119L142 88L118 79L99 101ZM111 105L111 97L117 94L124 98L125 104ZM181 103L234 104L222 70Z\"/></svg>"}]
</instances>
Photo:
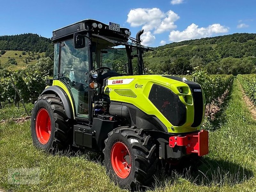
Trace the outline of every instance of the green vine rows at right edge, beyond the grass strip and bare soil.
<instances>
[{"instance_id":1,"label":"green vine rows at right edge, beyond the grass strip and bare soil","mask_svg":"<svg viewBox=\"0 0 256 192\"><path fill-rule=\"evenodd\" d=\"M245 94L256 104L256 74L238 75L237 79L242 85Z\"/></svg>"}]
</instances>

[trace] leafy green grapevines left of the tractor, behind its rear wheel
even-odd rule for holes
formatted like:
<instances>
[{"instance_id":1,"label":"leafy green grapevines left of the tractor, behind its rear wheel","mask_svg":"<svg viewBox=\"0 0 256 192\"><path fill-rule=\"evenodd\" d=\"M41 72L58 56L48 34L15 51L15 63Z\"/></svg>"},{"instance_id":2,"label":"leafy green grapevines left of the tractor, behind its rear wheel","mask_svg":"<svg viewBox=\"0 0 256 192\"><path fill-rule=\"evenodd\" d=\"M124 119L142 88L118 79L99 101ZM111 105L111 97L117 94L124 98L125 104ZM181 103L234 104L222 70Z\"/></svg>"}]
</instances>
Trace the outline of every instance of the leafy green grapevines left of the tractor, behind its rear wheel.
<instances>
[{"instance_id":1,"label":"leafy green grapevines left of the tractor, behind its rear wheel","mask_svg":"<svg viewBox=\"0 0 256 192\"><path fill-rule=\"evenodd\" d=\"M50 58L41 58L36 65L31 65L26 70L0 70L0 103L19 101L12 80L24 102L34 102L44 90L44 80L49 78L49 74L52 75L52 66L53 61Z\"/></svg>"}]
</instances>

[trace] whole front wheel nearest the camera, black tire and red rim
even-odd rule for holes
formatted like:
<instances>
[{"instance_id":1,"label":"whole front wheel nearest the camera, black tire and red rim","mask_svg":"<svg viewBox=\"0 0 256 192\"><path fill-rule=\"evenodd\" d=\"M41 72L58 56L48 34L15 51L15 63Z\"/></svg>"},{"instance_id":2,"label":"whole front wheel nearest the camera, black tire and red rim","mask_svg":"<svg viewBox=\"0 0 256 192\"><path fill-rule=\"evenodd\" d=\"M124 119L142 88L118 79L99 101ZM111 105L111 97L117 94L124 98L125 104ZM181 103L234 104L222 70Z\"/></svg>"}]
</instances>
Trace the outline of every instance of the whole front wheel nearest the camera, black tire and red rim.
<instances>
[{"instance_id":1,"label":"whole front wheel nearest the camera, black tire and red rim","mask_svg":"<svg viewBox=\"0 0 256 192\"><path fill-rule=\"evenodd\" d=\"M130 190L147 185L157 167L157 148L143 129L116 128L105 140L104 163L111 180Z\"/></svg>"}]
</instances>

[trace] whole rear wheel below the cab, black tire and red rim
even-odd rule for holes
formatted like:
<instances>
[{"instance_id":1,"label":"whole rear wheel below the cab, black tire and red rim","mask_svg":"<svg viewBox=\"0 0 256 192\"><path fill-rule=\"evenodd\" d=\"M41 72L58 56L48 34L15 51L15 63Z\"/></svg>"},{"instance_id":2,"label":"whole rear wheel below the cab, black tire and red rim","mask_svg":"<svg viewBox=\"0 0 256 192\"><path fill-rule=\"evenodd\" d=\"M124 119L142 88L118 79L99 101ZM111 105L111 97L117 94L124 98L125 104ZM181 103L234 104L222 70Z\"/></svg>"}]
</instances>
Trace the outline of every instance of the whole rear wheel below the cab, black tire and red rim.
<instances>
[{"instance_id":1,"label":"whole rear wheel below the cab, black tire and red rim","mask_svg":"<svg viewBox=\"0 0 256 192\"><path fill-rule=\"evenodd\" d=\"M59 97L38 97L31 117L31 136L37 148L55 152L66 149L72 138L68 117Z\"/></svg>"}]
</instances>

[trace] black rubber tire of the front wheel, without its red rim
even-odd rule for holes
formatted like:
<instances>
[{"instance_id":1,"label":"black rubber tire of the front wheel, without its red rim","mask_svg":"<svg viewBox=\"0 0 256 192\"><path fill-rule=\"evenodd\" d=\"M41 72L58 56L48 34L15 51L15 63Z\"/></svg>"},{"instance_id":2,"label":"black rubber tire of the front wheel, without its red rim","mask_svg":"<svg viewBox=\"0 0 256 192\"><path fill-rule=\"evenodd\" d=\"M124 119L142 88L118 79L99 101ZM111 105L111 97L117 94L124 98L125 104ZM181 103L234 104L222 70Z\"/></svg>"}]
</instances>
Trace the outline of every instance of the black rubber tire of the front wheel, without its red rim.
<instances>
[{"instance_id":1,"label":"black rubber tire of the front wheel, without its red rim","mask_svg":"<svg viewBox=\"0 0 256 192\"><path fill-rule=\"evenodd\" d=\"M135 140L131 142L131 139ZM128 177L124 179L115 173L111 164L111 149L116 142L122 142L128 148L131 156L131 170ZM153 175L156 172L159 158L158 150L152 137L145 134L143 129L129 127L114 129L108 133L103 153L104 164L110 179L121 188L136 190L148 185L154 179Z\"/></svg>"}]
</instances>

